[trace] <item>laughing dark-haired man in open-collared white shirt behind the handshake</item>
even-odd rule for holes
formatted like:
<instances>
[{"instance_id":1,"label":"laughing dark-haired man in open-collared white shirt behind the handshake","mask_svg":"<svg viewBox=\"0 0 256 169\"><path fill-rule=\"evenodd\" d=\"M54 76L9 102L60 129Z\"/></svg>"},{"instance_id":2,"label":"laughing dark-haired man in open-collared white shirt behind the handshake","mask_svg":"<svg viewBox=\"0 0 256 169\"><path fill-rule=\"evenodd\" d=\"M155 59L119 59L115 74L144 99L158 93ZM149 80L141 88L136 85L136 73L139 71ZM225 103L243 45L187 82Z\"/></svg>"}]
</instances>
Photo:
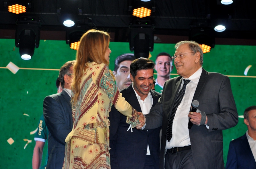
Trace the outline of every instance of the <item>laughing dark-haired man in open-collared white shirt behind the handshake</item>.
<instances>
[{"instance_id":1,"label":"laughing dark-haired man in open-collared white shirt behind the handshake","mask_svg":"<svg viewBox=\"0 0 256 169\"><path fill-rule=\"evenodd\" d=\"M148 114L160 93L151 90L155 63L146 58L132 61L132 84L120 91L134 109ZM112 107L110 120L111 169L159 169L160 126L152 130L132 130L126 117Z\"/></svg>"}]
</instances>

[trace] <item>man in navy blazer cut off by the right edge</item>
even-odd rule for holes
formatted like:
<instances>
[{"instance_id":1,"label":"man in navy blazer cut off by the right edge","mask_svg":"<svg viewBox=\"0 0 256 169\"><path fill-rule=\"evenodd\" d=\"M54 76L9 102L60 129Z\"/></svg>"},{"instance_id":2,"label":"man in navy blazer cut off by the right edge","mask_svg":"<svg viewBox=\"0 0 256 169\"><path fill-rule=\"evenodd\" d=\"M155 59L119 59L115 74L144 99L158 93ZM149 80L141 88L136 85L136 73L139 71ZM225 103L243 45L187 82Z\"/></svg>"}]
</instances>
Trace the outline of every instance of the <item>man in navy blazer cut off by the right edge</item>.
<instances>
[{"instance_id":1,"label":"man in navy blazer cut off by the right edge","mask_svg":"<svg viewBox=\"0 0 256 169\"><path fill-rule=\"evenodd\" d=\"M231 141L228 149L226 169L256 168L256 106L244 110L244 123L248 130Z\"/></svg>"}]
</instances>

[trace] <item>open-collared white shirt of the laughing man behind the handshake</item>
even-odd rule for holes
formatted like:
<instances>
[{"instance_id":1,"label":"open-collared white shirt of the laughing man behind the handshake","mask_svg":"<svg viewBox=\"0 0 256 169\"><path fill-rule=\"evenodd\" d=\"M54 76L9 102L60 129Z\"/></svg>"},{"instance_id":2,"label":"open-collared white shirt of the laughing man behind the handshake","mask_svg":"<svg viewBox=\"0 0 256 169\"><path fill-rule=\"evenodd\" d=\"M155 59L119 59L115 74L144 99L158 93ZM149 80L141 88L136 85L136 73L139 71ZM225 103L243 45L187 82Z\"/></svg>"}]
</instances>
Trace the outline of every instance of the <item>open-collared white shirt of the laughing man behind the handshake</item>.
<instances>
[{"instance_id":1,"label":"open-collared white shirt of the laughing man behind the handshake","mask_svg":"<svg viewBox=\"0 0 256 169\"><path fill-rule=\"evenodd\" d=\"M132 82L132 88L133 88L133 82ZM134 88L133 88L134 90ZM140 99L140 96L137 94L137 92L134 90L135 94L136 94L136 97L140 103L140 109L142 111L142 114L146 115L149 113L149 110L151 109L152 105L153 105L153 98L151 96L151 93L149 92L148 93L148 96L143 100ZM131 127L131 125L130 125ZM129 129L130 129L129 127ZM128 130L129 130L128 129ZM150 155L150 151L149 151L149 146L148 146L148 149L147 149L147 155Z\"/></svg>"}]
</instances>

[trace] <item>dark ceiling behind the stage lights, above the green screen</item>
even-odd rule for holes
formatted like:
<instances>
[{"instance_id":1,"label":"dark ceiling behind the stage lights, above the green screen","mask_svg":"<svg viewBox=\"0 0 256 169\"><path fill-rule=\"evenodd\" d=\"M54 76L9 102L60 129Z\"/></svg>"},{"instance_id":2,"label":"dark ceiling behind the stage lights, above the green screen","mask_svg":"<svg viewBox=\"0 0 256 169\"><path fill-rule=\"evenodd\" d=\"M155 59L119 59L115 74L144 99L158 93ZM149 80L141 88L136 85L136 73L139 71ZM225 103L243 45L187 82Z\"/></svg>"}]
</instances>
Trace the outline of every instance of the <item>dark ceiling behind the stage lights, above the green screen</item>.
<instances>
[{"instance_id":1,"label":"dark ceiling behind the stage lights, above the green screen","mask_svg":"<svg viewBox=\"0 0 256 169\"><path fill-rule=\"evenodd\" d=\"M14 39L16 21L24 19L40 22L40 39L54 40L65 40L66 31L78 27L103 29L111 34L112 41L128 42L129 25L143 23L129 11L130 0L30 0L26 1L30 3L27 12L19 15L8 12L10 0L3 1L0 6L2 39ZM223 5L219 0L156 0L155 12L140 20L152 23L154 35L158 37L155 43L177 43L188 39L192 28L213 29L222 22L226 31L212 32L215 44L256 45L254 1L233 1L233 4ZM62 25L61 17L65 11L76 15L75 26Z\"/></svg>"}]
</instances>

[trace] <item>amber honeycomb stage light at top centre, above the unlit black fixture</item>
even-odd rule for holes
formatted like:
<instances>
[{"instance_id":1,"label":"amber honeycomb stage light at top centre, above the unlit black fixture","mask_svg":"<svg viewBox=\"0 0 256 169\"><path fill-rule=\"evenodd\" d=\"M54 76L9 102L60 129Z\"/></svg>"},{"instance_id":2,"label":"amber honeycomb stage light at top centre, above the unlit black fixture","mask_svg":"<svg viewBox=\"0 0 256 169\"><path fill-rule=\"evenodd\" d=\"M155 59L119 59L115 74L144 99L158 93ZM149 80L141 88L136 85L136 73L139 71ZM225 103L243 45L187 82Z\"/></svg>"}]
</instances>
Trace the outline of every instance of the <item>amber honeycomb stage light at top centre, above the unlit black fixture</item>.
<instances>
[{"instance_id":1,"label":"amber honeycomb stage light at top centre, above the unlit black fixture","mask_svg":"<svg viewBox=\"0 0 256 169\"><path fill-rule=\"evenodd\" d=\"M131 0L129 11L132 11L132 15L144 18L151 15L152 12L156 11L155 0Z\"/></svg>"}]
</instances>

